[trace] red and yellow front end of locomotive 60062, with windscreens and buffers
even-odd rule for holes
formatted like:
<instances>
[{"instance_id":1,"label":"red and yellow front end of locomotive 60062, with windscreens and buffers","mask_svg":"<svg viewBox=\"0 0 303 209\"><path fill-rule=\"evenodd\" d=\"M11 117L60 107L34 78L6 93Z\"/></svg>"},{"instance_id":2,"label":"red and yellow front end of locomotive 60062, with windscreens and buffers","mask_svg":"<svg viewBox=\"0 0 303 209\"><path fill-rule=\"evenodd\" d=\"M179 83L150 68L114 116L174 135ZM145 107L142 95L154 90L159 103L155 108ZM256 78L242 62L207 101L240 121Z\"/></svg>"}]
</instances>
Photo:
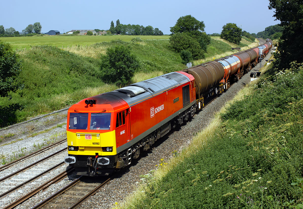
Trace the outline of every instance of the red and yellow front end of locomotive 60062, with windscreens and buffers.
<instances>
[{"instance_id":1,"label":"red and yellow front end of locomotive 60062, with windscreens and buffers","mask_svg":"<svg viewBox=\"0 0 303 209\"><path fill-rule=\"evenodd\" d=\"M116 120L114 112L122 104L104 102L104 99L101 102L96 97L83 99L68 110L68 156L64 161L74 167L78 175L108 175L116 167L118 155L113 121Z\"/></svg>"}]
</instances>

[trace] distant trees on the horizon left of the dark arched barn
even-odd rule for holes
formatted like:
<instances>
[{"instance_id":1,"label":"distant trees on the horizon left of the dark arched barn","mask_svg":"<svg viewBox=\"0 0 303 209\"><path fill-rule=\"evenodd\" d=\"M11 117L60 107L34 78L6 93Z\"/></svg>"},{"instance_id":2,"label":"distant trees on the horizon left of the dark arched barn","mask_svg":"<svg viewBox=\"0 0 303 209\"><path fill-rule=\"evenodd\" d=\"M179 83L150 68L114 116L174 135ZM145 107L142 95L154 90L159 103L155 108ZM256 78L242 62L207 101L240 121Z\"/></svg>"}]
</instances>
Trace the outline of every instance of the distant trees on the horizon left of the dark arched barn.
<instances>
[{"instance_id":1,"label":"distant trees on the horizon left of the dark arched barn","mask_svg":"<svg viewBox=\"0 0 303 209\"><path fill-rule=\"evenodd\" d=\"M36 35L41 33L42 26L40 22L35 22L34 24L29 24L22 33L28 36L31 34ZM11 37L11 36L23 36L20 35L19 31L16 31L13 27L4 29L3 25L0 25L0 37Z\"/></svg>"}]
</instances>

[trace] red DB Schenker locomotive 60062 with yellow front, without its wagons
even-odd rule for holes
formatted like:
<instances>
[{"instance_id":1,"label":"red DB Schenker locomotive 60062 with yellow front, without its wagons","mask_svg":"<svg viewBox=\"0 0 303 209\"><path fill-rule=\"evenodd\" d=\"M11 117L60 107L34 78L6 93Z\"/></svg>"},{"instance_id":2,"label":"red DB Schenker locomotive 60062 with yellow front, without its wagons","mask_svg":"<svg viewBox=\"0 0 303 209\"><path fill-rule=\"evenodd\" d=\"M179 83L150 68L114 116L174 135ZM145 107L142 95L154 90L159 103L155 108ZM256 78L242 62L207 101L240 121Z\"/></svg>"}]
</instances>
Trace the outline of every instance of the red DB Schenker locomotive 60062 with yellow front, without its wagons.
<instances>
[{"instance_id":1,"label":"red DB Schenker locomotive 60062 with yellow front, without its wagons","mask_svg":"<svg viewBox=\"0 0 303 209\"><path fill-rule=\"evenodd\" d=\"M68 157L81 175L108 175L196 111L194 77L172 72L83 99L68 110Z\"/></svg>"}]
</instances>

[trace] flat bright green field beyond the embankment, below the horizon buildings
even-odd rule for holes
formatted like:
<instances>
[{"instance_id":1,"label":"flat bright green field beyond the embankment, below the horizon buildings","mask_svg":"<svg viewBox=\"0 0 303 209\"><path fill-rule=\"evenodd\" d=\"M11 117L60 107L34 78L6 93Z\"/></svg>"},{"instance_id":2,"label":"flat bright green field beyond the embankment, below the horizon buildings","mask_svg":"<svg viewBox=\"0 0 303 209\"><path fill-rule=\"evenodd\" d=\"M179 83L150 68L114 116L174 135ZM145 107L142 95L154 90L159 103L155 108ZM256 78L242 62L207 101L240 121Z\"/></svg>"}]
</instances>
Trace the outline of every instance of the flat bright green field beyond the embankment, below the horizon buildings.
<instances>
[{"instance_id":1,"label":"flat bright green field beyond the embankment, below the horizon buildings","mask_svg":"<svg viewBox=\"0 0 303 209\"><path fill-rule=\"evenodd\" d=\"M23 36L23 37L2 37L1 41L9 43L14 50L29 49L35 45L52 45L60 48L67 48L75 45L89 46L103 41L121 39L130 41L132 38L140 37L146 39L168 39L169 35L45 35L45 36Z\"/></svg>"}]
</instances>

